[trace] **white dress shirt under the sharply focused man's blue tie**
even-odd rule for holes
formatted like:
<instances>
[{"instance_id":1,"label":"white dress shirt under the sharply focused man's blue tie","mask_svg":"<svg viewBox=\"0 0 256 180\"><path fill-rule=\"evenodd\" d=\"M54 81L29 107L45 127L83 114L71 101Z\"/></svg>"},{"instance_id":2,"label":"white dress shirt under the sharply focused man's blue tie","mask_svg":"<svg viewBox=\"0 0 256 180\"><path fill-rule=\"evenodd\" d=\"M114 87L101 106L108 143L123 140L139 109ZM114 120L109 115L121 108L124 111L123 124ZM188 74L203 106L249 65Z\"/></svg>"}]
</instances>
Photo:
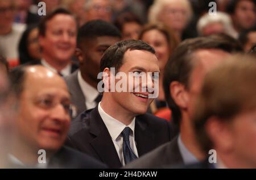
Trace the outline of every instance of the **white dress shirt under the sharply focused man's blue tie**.
<instances>
[{"instance_id":1,"label":"white dress shirt under the sharply focused man's blue tie","mask_svg":"<svg viewBox=\"0 0 256 180\"><path fill-rule=\"evenodd\" d=\"M106 125L106 128L108 128L109 134L112 137L112 141L114 143L115 149L117 150L117 154L119 156L119 160L121 161L122 165L125 165L125 160L123 158L123 137L121 136L121 132L125 127L131 128L130 132L130 145L131 149L133 149L134 154L138 156L138 151L135 143L134 138L134 128L135 128L135 118L129 125L125 125L121 122L119 122L117 119L112 118L112 116L106 114L106 112L102 109L101 103L98 104L98 112L100 113L100 116L103 120L103 122Z\"/></svg>"}]
</instances>

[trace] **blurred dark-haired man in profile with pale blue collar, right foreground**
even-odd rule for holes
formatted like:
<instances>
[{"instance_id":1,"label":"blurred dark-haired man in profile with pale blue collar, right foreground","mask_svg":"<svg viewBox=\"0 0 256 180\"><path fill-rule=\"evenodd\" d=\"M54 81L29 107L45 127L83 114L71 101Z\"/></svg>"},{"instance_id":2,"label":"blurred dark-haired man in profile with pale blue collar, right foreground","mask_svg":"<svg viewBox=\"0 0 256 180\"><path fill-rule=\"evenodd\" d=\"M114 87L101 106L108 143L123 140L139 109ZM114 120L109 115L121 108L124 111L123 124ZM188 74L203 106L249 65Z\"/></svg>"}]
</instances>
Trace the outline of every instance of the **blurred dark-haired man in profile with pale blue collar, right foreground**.
<instances>
[{"instance_id":1,"label":"blurred dark-haired man in profile with pale blue collar, right foreground","mask_svg":"<svg viewBox=\"0 0 256 180\"><path fill-rule=\"evenodd\" d=\"M183 41L172 54L164 70L164 93L172 111L172 120L180 133L170 143L134 161L126 168L167 168L203 160L203 153L192 128L194 101L200 93L205 74L225 61L230 53L241 51L225 36L208 36ZM221 93L221 92L220 92Z\"/></svg>"}]
</instances>

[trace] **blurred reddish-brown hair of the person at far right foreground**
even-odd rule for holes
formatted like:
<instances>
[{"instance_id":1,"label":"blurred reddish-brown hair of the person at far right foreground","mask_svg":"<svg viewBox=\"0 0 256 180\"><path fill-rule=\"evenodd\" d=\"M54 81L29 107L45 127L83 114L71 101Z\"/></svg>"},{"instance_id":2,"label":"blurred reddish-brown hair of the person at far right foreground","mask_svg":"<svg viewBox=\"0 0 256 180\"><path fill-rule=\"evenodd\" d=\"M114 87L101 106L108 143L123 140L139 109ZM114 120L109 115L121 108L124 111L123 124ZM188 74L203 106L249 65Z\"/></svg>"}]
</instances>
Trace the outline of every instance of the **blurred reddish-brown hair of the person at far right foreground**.
<instances>
[{"instance_id":1,"label":"blurred reddish-brown hair of the person at far right foreground","mask_svg":"<svg viewBox=\"0 0 256 180\"><path fill-rule=\"evenodd\" d=\"M232 56L205 76L192 118L197 140L205 152L214 148L205 129L210 117L230 123L237 114L256 110L254 59L249 55Z\"/></svg>"}]
</instances>

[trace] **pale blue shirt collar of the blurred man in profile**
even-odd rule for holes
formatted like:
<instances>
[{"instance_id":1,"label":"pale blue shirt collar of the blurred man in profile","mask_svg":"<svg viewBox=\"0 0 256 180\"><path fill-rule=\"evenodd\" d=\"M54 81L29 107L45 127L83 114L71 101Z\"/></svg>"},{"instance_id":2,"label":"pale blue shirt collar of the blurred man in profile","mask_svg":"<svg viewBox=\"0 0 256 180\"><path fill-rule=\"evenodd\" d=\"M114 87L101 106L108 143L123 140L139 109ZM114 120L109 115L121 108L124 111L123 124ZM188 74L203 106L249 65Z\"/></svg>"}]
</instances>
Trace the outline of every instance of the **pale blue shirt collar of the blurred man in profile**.
<instances>
[{"instance_id":1,"label":"pale blue shirt collar of the blurred man in profile","mask_svg":"<svg viewBox=\"0 0 256 180\"><path fill-rule=\"evenodd\" d=\"M195 162L199 162L197 158L186 148L183 141L181 140L181 136L179 135L177 144L180 149L181 157L183 158L184 164L192 164Z\"/></svg>"}]
</instances>

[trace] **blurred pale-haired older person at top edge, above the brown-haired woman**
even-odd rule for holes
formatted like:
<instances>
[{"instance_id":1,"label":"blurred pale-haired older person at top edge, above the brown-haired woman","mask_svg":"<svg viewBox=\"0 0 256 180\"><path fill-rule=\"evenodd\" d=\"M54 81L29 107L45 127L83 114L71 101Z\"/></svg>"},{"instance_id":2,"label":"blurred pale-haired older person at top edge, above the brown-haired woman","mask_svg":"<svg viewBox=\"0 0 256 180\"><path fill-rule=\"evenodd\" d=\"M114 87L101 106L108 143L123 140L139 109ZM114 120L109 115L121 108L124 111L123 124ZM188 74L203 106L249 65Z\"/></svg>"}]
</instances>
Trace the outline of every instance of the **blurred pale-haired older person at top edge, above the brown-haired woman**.
<instances>
[{"instance_id":1,"label":"blurred pale-haired older person at top edge, above the brown-haired woman","mask_svg":"<svg viewBox=\"0 0 256 180\"><path fill-rule=\"evenodd\" d=\"M181 39L182 32L192 16L191 3L188 0L156 0L150 7L150 23L162 22L174 30Z\"/></svg>"}]
</instances>

